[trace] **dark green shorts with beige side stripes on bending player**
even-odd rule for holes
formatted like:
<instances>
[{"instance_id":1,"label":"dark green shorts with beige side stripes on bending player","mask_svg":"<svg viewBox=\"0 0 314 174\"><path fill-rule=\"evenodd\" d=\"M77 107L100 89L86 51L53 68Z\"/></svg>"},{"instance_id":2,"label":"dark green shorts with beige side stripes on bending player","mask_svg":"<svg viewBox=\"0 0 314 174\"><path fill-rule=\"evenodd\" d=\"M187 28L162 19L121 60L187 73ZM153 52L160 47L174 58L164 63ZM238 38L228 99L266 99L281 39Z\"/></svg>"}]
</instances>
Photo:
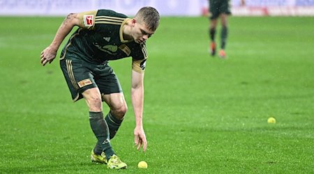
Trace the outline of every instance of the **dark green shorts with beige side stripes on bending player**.
<instances>
[{"instance_id":1,"label":"dark green shorts with beige side stripes on bending player","mask_svg":"<svg viewBox=\"0 0 314 174\"><path fill-rule=\"evenodd\" d=\"M82 99L82 93L89 88L98 87L101 94L122 93L119 79L107 63L98 65L64 58L60 61L60 67L73 102Z\"/></svg>"}]
</instances>

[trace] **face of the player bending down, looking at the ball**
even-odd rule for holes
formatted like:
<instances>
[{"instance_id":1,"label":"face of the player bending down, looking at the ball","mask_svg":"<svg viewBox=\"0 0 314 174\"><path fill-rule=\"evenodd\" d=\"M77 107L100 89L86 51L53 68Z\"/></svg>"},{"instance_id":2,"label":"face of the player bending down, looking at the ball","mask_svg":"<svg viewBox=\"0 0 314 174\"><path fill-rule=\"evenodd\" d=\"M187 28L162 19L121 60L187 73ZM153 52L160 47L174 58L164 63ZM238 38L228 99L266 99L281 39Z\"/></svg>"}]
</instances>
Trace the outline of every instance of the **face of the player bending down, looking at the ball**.
<instances>
[{"instance_id":1,"label":"face of the player bending down, looking at the ball","mask_svg":"<svg viewBox=\"0 0 314 174\"><path fill-rule=\"evenodd\" d=\"M147 29L147 26L135 22L133 27L133 39L137 43L145 42L148 38L151 37L155 32Z\"/></svg>"}]
</instances>

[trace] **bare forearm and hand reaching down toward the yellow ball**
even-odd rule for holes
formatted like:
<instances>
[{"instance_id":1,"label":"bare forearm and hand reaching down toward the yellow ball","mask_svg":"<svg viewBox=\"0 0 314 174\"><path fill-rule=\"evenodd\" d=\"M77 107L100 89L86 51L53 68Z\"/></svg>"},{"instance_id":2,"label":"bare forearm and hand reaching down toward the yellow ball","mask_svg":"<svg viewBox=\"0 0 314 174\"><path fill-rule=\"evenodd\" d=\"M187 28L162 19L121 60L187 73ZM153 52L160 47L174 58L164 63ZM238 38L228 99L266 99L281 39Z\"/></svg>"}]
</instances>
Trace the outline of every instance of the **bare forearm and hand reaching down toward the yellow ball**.
<instances>
[{"instance_id":1,"label":"bare forearm and hand reaching down toward the yellow ball","mask_svg":"<svg viewBox=\"0 0 314 174\"><path fill-rule=\"evenodd\" d=\"M143 128L143 105L144 105L144 73L132 70L131 100L135 115L134 142L137 150L143 146L147 148L147 140Z\"/></svg>"}]
</instances>

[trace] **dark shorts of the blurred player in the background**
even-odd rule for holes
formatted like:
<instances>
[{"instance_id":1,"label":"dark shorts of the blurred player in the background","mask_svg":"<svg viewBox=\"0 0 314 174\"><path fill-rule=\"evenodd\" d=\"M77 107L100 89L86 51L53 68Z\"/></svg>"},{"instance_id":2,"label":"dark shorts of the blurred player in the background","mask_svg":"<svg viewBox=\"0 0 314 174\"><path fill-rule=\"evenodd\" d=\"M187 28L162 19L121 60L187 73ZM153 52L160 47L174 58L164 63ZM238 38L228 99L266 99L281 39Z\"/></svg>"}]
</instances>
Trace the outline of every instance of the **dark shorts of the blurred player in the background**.
<instances>
[{"instance_id":1,"label":"dark shorts of the blurred player in the background","mask_svg":"<svg viewBox=\"0 0 314 174\"><path fill-rule=\"evenodd\" d=\"M224 13L230 15L229 0L209 0L209 14L210 19L217 19L220 14Z\"/></svg>"}]
</instances>

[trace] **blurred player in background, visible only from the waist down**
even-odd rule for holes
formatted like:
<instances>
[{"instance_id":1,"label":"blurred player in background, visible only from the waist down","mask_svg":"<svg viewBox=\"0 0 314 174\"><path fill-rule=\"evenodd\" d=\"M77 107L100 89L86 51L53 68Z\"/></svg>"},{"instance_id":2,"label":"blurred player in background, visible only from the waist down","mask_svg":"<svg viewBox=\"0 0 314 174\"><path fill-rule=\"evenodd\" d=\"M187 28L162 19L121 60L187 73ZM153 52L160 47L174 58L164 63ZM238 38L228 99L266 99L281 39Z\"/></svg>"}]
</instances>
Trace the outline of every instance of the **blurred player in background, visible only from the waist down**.
<instances>
[{"instance_id":1,"label":"blurred player in background, visible only from the waist down","mask_svg":"<svg viewBox=\"0 0 314 174\"><path fill-rule=\"evenodd\" d=\"M244 6L245 1L241 0L241 6ZM218 23L218 17L220 17L221 33L220 33L220 51L218 56L220 58L225 58L225 45L227 42L227 17L231 15L230 12L230 0L209 0L209 37L211 43L209 45L209 52L211 56L216 55L216 27Z\"/></svg>"}]
</instances>

